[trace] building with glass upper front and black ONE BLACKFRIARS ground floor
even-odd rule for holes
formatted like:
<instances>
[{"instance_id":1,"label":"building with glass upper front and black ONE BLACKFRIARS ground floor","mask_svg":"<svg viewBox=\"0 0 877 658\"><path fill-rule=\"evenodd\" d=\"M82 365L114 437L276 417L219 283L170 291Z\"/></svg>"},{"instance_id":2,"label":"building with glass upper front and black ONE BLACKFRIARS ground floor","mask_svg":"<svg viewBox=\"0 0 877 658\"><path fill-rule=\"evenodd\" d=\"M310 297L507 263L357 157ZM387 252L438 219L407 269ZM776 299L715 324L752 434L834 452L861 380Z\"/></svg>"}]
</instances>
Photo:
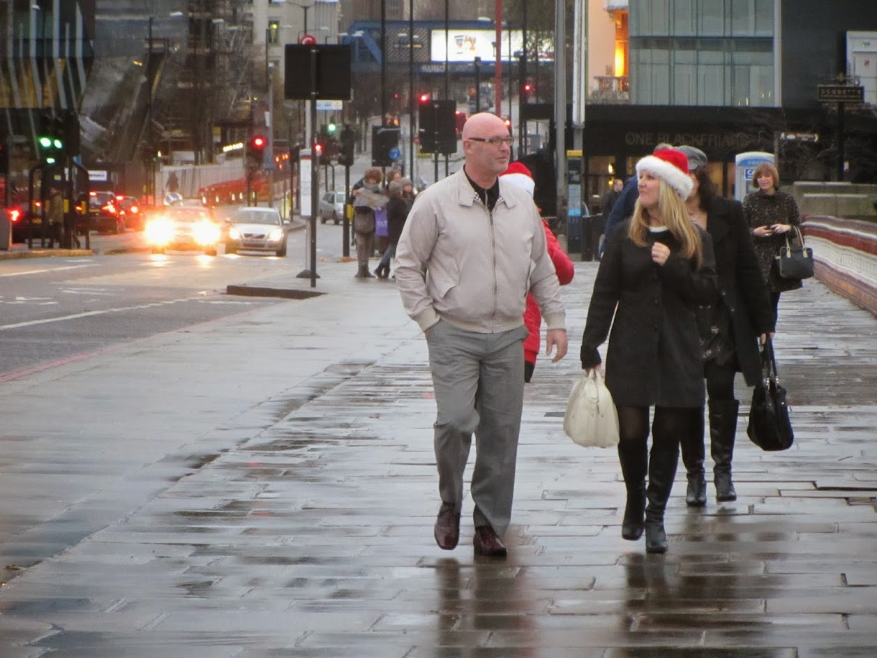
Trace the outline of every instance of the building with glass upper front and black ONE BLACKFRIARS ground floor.
<instances>
[{"instance_id":1,"label":"building with glass upper front and black ONE BLACKFRIARS ground floor","mask_svg":"<svg viewBox=\"0 0 877 658\"><path fill-rule=\"evenodd\" d=\"M631 175L659 142L702 148L726 196L735 193L734 156L745 151L776 154L783 182L877 180L873 68L866 104L841 108L841 127L838 104L817 100L820 85L861 82L847 77L847 43L853 31L877 30L870 0L606 0L590 11L592 26L608 12L628 29L590 53L589 72L604 73L588 85L587 198Z\"/></svg>"}]
</instances>

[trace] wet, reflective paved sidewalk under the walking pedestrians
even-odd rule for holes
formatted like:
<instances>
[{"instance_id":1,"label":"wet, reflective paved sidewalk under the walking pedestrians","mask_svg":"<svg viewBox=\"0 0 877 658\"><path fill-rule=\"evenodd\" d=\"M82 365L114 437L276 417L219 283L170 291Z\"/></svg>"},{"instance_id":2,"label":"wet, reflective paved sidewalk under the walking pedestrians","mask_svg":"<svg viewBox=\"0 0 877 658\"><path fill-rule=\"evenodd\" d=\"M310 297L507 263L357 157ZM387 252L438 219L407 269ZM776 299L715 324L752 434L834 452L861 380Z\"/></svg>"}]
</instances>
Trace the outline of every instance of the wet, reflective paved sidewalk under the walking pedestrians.
<instances>
[{"instance_id":1,"label":"wet, reflective paved sidewalk under the walking pedestrians","mask_svg":"<svg viewBox=\"0 0 877 658\"><path fill-rule=\"evenodd\" d=\"M424 340L355 268L320 263L314 297L229 282L302 298L0 383L0 656L877 654L873 316L812 280L783 295L795 446L761 452L741 418L738 501L710 485L688 510L680 473L669 552L646 555L620 537L614 452L562 433L596 270L577 263L496 560L469 498L460 546L432 539Z\"/></svg>"}]
</instances>

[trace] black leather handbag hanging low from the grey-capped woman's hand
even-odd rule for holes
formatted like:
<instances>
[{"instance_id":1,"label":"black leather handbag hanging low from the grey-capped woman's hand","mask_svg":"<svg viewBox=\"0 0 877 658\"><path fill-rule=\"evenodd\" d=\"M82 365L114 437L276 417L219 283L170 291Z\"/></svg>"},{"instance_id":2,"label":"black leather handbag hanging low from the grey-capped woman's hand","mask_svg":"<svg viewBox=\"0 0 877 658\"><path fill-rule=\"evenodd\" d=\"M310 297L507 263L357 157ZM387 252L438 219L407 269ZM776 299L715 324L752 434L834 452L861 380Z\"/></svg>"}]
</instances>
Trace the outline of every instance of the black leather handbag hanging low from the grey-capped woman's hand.
<instances>
[{"instance_id":1,"label":"black leather handbag hanging low from the grey-capped woman's hand","mask_svg":"<svg viewBox=\"0 0 877 658\"><path fill-rule=\"evenodd\" d=\"M761 381L752 390L746 433L752 443L768 451L788 450L795 441L786 390L776 375L774 344L769 338L761 346Z\"/></svg>"}]
</instances>

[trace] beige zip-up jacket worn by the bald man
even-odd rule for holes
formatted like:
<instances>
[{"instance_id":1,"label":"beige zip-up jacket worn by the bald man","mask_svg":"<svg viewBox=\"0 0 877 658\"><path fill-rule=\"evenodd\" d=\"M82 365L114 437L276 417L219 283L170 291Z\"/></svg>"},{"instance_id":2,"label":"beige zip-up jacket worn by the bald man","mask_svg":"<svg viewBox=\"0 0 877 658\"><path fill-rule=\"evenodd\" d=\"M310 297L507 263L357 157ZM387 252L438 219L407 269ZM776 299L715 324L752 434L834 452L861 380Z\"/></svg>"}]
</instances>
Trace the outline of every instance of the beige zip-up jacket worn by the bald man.
<instances>
[{"instance_id":1,"label":"beige zip-up jacket worn by the bald man","mask_svg":"<svg viewBox=\"0 0 877 658\"><path fill-rule=\"evenodd\" d=\"M405 311L424 332L439 319L471 332L510 331L524 324L527 292L549 329L564 328L536 205L502 177L499 185L492 212L462 168L417 195L396 247L395 275Z\"/></svg>"}]
</instances>

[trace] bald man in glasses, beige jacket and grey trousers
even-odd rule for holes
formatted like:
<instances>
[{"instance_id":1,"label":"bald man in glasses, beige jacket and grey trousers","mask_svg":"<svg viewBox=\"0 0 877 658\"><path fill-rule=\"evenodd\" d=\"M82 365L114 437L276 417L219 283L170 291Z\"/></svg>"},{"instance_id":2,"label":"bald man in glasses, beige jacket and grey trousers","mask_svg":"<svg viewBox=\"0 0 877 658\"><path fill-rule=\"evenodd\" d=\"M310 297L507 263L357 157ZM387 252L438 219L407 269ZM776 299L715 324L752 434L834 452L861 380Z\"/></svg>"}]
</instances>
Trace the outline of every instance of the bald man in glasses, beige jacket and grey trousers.
<instances>
[{"instance_id":1,"label":"bald man in glasses, beige jacket and grey trousers","mask_svg":"<svg viewBox=\"0 0 877 658\"><path fill-rule=\"evenodd\" d=\"M465 166L417 195L411 208L396 248L396 284L430 354L442 500L436 543L451 550L460 540L474 434L474 549L502 557L524 405L527 292L545 318L553 361L567 354L567 332L536 205L499 177L509 165L509 130L493 114L474 114L462 140Z\"/></svg>"}]
</instances>

